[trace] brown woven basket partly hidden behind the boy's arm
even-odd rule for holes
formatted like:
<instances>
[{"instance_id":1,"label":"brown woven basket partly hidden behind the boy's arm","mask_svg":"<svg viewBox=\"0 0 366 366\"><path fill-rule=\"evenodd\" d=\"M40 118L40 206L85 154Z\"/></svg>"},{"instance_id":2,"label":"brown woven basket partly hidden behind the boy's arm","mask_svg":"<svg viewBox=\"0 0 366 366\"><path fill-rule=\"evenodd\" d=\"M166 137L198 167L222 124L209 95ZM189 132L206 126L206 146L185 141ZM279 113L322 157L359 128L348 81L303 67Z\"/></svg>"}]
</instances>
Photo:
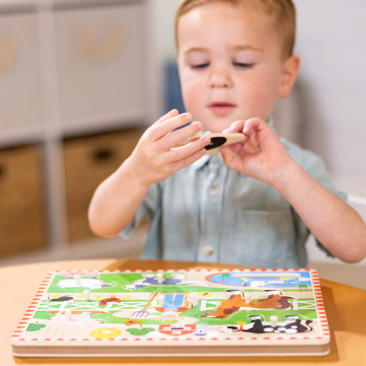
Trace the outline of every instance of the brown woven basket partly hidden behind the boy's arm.
<instances>
[{"instance_id":1,"label":"brown woven basket partly hidden behind the boy's arm","mask_svg":"<svg viewBox=\"0 0 366 366\"><path fill-rule=\"evenodd\" d=\"M93 236L87 211L97 186L131 154L139 129L64 141L68 239L71 244Z\"/></svg>"}]
</instances>

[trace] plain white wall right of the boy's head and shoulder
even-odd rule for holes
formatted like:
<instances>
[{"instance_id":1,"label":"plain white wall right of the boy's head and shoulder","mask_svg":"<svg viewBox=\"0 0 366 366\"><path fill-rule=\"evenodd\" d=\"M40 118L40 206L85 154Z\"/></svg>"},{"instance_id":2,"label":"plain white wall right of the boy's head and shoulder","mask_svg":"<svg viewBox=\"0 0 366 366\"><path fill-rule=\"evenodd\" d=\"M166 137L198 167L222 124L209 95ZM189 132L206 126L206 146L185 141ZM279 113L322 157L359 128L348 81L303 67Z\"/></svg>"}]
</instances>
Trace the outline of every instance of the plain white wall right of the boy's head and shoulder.
<instances>
[{"instance_id":1,"label":"plain white wall right of the boy's head and shoulder","mask_svg":"<svg viewBox=\"0 0 366 366\"><path fill-rule=\"evenodd\" d=\"M295 0L303 145L366 197L366 1Z\"/></svg>"}]
</instances>

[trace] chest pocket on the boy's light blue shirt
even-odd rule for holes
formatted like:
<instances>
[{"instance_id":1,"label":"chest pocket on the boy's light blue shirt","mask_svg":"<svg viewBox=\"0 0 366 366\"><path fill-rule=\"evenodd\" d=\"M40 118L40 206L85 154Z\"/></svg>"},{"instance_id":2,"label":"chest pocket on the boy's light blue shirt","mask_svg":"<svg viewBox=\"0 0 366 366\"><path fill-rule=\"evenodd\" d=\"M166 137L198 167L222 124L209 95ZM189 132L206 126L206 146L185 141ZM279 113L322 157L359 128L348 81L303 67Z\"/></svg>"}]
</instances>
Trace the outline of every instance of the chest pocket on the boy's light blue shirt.
<instances>
[{"instance_id":1,"label":"chest pocket on the boy's light blue shirt","mask_svg":"<svg viewBox=\"0 0 366 366\"><path fill-rule=\"evenodd\" d=\"M295 264L295 226L291 209L239 208L230 244L230 254L237 263L267 268Z\"/></svg>"}]
</instances>

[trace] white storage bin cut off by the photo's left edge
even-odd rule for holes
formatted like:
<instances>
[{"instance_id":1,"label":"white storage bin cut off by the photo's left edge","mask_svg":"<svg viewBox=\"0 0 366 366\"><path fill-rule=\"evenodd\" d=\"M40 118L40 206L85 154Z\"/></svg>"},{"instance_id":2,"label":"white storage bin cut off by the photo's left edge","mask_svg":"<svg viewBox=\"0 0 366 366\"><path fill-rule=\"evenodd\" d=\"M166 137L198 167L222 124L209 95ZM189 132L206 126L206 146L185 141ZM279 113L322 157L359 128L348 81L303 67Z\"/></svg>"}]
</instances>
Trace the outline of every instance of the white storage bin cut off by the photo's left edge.
<instances>
[{"instance_id":1,"label":"white storage bin cut off by the photo's left edge","mask_svg":"<svg viewBox=\"0 0 366 366\"><path fill-rule=\"evenodd\" d=\"M0 131L42 124L35 13L0 14Z\"/></svg>"}]
</instances>

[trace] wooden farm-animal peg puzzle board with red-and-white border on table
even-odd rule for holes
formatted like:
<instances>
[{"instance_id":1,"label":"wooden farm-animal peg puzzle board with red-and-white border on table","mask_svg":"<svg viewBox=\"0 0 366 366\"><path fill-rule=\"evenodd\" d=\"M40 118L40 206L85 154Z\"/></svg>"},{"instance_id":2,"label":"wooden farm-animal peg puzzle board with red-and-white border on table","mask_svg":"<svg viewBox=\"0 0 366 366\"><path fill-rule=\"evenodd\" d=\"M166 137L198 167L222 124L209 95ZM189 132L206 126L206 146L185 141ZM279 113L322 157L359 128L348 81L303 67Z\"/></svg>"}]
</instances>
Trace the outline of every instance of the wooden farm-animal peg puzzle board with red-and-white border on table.
<instances>
[{"instance_id":1,"label":"wooden farm-animal peg puzzle board with red-and-white border on table","mask_svg":"<svg viewBox=\"0 0 366 366\"><path fill-rule=\"evenodd\" d=\"M315 270L73 270L47 274L12 347L18 357L320 356L329 338Z\"/></svg>"}]
</instances>

